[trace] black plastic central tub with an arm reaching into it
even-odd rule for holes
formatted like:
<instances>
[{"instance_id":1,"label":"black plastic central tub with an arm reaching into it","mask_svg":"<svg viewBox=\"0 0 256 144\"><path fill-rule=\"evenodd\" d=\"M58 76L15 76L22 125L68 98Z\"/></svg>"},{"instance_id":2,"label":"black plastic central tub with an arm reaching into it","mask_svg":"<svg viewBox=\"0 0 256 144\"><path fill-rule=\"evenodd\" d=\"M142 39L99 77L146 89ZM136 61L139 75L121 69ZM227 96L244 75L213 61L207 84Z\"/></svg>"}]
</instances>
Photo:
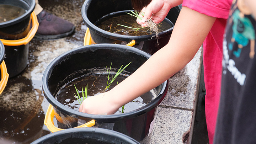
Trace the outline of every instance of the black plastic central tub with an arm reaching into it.
<instances>
[{"instance_id":1,"label":"black plastic central tub with an arm reaching into it","mask_svg":"<svg viewBox=\"0 0 256 144\"><path fill-rule=\"evenodd\" d=\"M81 74L75 71L91 68L106 68L111 62L111 68L119 69L122 64L132 62L126 71L133 73L151 55L134 47L121 44L92 44L69 50L55 58L46 68L42 78L43 93L54 111L72 122L58 124L59 128L78 126L78 121L89 122L94 119L95 127L111 129L132 137L140 143L149 143L154 126L158 105L164 99L168 90L168 81L155 88L156 97L147 105L137 110L112 115L94 115L82 113L62 105L55 99L55 93L63 83L67 83ZM74 74L67 78L67 76ZM65 127L66 126L66 127ZM69 127L70 128L70 127Z\"/></svg>"}]
</instances>

